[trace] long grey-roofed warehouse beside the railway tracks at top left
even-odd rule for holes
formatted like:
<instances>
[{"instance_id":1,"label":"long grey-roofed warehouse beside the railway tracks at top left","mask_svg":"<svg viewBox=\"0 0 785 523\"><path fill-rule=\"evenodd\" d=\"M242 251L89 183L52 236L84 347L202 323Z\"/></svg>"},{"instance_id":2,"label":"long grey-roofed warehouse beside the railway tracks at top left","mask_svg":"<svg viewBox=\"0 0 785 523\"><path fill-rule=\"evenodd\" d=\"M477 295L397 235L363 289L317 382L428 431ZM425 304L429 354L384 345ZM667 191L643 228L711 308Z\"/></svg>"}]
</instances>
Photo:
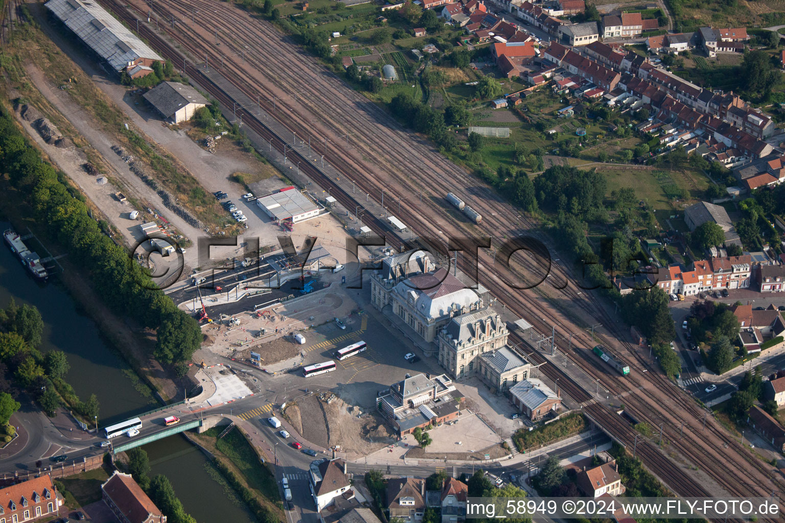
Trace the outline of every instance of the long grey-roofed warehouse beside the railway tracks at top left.
<instances>
[{"instance_id":1,"label":"long grey-roofed warehouse beside the railway tracks at top left","mask_svg":"<svg viewBox=\"0 0 785 523\"><path fill-rule=\"evenodd\" d=\"M49 0L46 8L107 64L131 78L152 73L163 58L103 7L86 0Z\"/></svg>"}]
</instances>

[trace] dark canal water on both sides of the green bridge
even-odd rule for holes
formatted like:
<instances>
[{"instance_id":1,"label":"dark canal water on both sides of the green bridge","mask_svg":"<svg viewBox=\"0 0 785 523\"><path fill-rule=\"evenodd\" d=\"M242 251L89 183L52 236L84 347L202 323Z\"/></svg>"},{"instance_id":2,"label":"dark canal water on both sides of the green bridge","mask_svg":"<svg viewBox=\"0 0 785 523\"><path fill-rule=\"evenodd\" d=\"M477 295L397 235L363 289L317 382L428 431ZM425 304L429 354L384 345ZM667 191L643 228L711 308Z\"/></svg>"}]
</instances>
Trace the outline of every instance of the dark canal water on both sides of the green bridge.
<instances>
[{"instance_id":1,"label":"dark canal water on both sides of the green bridge","mask_svg":"<svg viewBox=\"0 0 785 523\"><path fill-rule=\"evenodd\" d=\"M0 222L0 232L7 228L9 223ZM71 370L65 379L83 400L96 394L100 401L99 425L119 422L157 406L137 391L126 361L109 349L95 322L78 310L57 277L49 278L46 284L38 283L5 241L0 242L0 307L7 307L11 298L17 305L38 307L44 321L42 352L62 350L68 354ZM150 456L152 475L169 478L185 511L199 523L254 521L243 503L225 493L222 483L216 481L220 476L210 472L206 456L182 436L155 441L144 449Z\"/></svg>"}]
</instances>

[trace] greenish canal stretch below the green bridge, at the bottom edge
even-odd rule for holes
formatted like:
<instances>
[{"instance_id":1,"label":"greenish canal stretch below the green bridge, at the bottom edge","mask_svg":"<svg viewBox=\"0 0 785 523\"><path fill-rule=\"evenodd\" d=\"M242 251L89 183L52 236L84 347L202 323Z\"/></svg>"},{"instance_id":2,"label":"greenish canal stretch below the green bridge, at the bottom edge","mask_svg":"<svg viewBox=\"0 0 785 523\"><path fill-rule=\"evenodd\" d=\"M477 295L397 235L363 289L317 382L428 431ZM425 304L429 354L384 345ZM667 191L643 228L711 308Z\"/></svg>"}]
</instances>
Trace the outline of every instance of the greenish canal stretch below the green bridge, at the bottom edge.
<instances>
[{"instance_id":1,"label":"greenish canal stretch below the green bridge, at the bottom edge","mask_svg":"<svg viewBox=\"0 0 785 523\"><path fill-rule=\"evenodd\" d=\"M210 466L207 456L183 436L153 441L143 449L150 458L150 477L163 474L169 478L185 511L199 523L256 521Z\"/></svg>"}]
</instances>

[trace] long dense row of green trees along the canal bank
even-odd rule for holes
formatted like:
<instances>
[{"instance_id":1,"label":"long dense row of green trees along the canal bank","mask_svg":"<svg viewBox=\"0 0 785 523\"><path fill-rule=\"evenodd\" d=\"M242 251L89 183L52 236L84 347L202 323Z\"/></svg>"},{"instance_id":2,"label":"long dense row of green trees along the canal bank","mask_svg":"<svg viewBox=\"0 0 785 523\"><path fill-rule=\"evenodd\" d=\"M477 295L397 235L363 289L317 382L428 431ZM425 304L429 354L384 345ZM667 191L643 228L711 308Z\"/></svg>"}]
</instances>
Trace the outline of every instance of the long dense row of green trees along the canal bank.
<instances>
[{"instance_id":1,"label":"long dense row of green trees along the canal bank","mask_svg":"<svg viewBox=\"0 0 785 523\"><path fill-rule=\"evenodd\" d=\"M156 289L139 263L116 245L88 214L84 196L64 173L44 162L0 108L0 165L8 174L17 196L30 205L32 219L68 252L68 259L82 267L104 304L115 314L132 318L144 327L158 330L152 356L175 365L184 375L193 352L202 342L196 321Z\"/></svg>"}]
</instances>

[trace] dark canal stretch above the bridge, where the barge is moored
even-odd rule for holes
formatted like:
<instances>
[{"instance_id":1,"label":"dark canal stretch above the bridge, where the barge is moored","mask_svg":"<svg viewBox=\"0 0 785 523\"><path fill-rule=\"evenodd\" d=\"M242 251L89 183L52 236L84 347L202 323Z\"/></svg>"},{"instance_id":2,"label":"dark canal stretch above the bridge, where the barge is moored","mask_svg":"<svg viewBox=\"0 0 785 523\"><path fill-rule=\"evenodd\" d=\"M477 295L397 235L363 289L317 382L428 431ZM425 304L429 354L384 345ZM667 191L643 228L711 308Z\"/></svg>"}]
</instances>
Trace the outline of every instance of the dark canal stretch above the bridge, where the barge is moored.
<instances>
[{"instance_id":1,"label":"dark canal stretch above the bridge, where the barge is moored","mask_svg":"<svg viewBox=\"0 0 785 523\"><path fill-rule=\"evenodd\" d=\"M0 231L9 227L0 222ZM126 361L104 343L95 322L77 309L57 277L43 284L35 281L5 240L0 242L0 307L7 307L11 298L16 305L38 307L44 321L42 352L58 349L68 354L71 370L65 380L82 401L96 394L99 426L154 408L152 396L137 391ZM31 240L26 243L34 246Z\"/></svg>"}]
</instances>

